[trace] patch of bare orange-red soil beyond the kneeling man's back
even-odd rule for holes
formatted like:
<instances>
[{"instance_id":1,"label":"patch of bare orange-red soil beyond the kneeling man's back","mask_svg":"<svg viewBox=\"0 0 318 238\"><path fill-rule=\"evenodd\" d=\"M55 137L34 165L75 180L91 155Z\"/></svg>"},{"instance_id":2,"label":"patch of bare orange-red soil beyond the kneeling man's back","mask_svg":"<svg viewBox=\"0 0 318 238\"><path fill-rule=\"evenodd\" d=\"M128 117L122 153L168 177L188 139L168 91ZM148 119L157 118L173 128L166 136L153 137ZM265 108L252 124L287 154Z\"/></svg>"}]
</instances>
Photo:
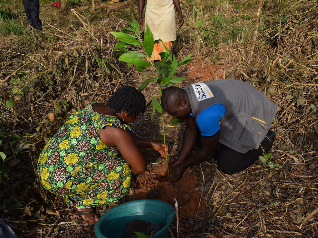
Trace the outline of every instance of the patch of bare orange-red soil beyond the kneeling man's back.
<instances>
[{"instance_id":1,"label":"patch of bare orange-red soil beyond the kneeling man's back","mask_svg":"<svg viewBox=\"0 0 318 238\"><path fill-rule=\"evenodd\" d=\"M196 61L189 64L186 74L190 80L210 81L211 79L221 79L223 65L216 65L206 61Z\"/></svg>"}]
</instances>

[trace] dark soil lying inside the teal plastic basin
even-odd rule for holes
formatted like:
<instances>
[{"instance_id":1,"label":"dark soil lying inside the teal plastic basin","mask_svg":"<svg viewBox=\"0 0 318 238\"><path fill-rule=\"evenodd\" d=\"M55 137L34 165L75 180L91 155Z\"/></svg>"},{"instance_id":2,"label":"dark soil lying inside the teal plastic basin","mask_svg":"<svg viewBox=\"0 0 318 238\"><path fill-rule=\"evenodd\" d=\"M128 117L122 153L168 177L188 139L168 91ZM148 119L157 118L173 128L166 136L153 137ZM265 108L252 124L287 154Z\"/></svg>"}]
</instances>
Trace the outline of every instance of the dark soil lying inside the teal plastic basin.
<instances>
[{"instance_id":1,"label":"dark soil lying inside the teal plastic basin","mask_svg":"<svg viewBox=\"0 0 318 238\"><path fill-rule=\"evenodd\" d=\"M125 235L121 238L138 238L135 232L140 232L144 235L150 235L151 233L158 232L163 226L161 224L152 224L146 221L141 221L135 219L134 221L127 222L127 228L125 230Z\"/></svg>"}]
</instances>

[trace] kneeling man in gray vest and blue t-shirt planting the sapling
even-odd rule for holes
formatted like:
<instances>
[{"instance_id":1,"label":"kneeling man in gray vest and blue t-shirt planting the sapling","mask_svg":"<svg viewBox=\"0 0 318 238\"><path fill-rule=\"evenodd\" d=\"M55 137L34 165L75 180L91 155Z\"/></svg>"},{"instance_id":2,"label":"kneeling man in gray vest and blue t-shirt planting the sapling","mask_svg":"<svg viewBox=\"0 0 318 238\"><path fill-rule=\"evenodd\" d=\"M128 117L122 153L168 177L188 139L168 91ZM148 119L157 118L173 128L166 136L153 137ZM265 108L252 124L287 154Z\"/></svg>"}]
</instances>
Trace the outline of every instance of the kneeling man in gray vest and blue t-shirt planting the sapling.
<instances>
[{"instance_id":1,"label":"kneeling man in gray vest and blue t-shirt planting the sapling","mask_svg":"<svg viewBox=\"0 0 318 238\"><path fill-rule=\"evenodd\" d=\"M172 181L210 157L223 173L240 172L273 146L276 133L269 128L276 105L243 81L220 79L185 88L167 87L161 102L172 118L186 122L182 147L170 166ZM216 152L218 142L222 146ZM200 149L190 155L195 144Z\"/></svg>"}]
</instances>

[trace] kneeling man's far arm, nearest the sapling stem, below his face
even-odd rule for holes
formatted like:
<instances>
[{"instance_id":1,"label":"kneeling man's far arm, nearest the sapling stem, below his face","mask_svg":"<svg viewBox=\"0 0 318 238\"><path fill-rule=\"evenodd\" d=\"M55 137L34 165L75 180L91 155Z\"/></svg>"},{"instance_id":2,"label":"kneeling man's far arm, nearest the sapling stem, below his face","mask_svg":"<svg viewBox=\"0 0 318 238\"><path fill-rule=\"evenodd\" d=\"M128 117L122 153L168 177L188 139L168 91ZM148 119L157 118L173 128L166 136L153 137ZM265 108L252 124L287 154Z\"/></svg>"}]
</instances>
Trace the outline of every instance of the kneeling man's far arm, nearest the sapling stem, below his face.
<instances>
[{"instance_id":1,"label":"kneeling man's far arm, nearest the sapling stem, below his face","mask_svg":"<svg viewBox=\"0 0 318 238\"><path fill-rule=\"evenodd\" d=\"M185 119L185 124L186 128L183 133L182 146L176 161L171 165L171 167L182 163L188 158L190 151L192 150L197 141L197 137L199 136L199 127L197 126L197 122L194 117L187 117L187 119Z\"/></svg>"}]
</instances>

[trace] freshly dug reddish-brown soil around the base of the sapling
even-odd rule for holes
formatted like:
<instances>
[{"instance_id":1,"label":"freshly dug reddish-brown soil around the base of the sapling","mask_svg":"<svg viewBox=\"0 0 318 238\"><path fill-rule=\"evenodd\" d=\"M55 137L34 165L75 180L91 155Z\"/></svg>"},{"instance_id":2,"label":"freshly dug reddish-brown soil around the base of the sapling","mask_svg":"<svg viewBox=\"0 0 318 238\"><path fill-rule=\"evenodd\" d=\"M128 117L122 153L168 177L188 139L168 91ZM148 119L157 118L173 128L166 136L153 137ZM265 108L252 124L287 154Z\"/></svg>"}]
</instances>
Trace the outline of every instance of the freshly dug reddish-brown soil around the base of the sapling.
<instances>
[{"instance_id":1,"label":"freshly dug reddish-brown soil around the base of the sapling","mask_svg":"<svg viewBox=\"0 0 318 238\"><path fill-rule=\"evenodd\" d=\"M167 179L166 165L151 168L139 175L135 184L133 200L157 199L169 203L175 208L174 198L178 199L178 214L183 217L196 217L205 208L204 200L200 201L195 173L185 173L177 182Z\"/></svg>"}]
</instances>

